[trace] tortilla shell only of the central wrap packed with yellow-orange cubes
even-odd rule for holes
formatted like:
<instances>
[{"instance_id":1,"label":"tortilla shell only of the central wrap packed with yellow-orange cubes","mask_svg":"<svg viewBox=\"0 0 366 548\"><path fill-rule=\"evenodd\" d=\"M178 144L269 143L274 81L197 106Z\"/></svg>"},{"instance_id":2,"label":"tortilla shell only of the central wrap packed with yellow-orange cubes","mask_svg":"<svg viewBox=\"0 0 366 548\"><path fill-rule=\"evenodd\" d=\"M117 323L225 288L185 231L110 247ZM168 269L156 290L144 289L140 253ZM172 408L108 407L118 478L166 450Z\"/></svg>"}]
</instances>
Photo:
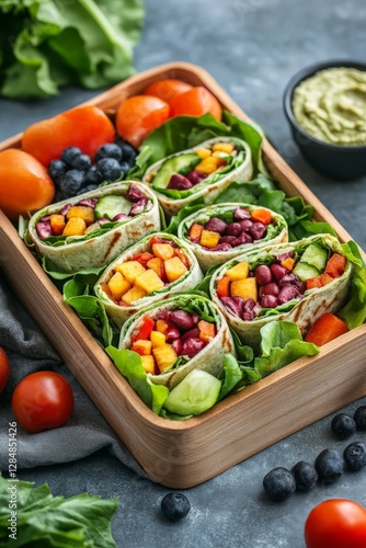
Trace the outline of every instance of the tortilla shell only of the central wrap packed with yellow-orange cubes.
<instances>
[{"instance_id":1,"label":"tortilla shell only of the central wrap packed with yellow-orange cubes","mask_svg":"<svg viewBox=\"0 0 366 548\"><path fill-rule=\"evenodd\" d=\"M118 329L122 328L124 322L128 320L130 316L138 312L142 308L146 308L152 302L165 300L170 298L174 293L187 292L203 279L203 273L199 269L199 264L188 246L180 241L175 236L168 235L165 232L157 232L153 233L153 236L158 236L164 240L170 240L174 242L182 251L184 251L185 256L187 258L190 263L190 270L175 282L165 285L165 287L163 287L162 289L156 290L150 295L148 294L146 297L134 301L134 304L131 304L130 306L119 306L116 305L112 299L110 299L106 293L102 289L101 284L107 283L110 281L112 273L117 264L130 261L138 253L151 251L151 236L152 235L146 236L138 243L131 246L121 255L118 255L117 259L115 259L103 272L103 275L99 278L94 286L94 293L96 297L101 299L101 301L105 306L106 313Z\"/></svg>"}]
</instances>

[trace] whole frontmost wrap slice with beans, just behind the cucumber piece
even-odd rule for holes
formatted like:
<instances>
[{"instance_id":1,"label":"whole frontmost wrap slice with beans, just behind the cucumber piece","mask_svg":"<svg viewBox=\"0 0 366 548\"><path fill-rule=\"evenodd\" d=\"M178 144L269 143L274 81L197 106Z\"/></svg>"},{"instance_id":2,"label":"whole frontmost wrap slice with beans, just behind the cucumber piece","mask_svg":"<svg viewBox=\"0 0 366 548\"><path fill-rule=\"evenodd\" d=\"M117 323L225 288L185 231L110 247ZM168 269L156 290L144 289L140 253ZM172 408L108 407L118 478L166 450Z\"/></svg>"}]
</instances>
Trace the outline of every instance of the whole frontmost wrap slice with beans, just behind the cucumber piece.
<instances>
[{"instance_id":1,"label":"whole frontmost wrap slice with beans, just behind the cucumber piece","mask_svg":"<svg viewBox=\"0 0 366 548\"><path fill-rule=\"evenodd\" d=\"M188 294L131 316L122 328L118 347L138 351L151 383L169 390L193 369L217 376L225 354L236 353L221 312L209 299Z\"/></svg>"}]
</instances>

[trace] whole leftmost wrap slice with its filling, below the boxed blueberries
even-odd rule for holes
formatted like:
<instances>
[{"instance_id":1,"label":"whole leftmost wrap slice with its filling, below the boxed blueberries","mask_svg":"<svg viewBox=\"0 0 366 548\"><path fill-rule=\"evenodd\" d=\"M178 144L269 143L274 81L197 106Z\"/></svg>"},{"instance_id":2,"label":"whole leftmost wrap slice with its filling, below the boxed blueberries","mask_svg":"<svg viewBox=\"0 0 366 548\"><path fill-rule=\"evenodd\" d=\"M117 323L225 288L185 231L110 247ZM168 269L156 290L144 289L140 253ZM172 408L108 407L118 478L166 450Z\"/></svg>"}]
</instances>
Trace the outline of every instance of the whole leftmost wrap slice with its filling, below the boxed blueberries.
<instances>
[{"instance_id":1,"label":"whole leftmost wrap slice with its filling, below the boxed blueberries","mask_svg":"<svg viewBox=\"0 0 366 548\"><path fill-rule=\"evenodd\" d=\"M77 228L80 222L84 231L76 235L69 230L72 233L65 236L62 224L70 220L70 206L78 207L73 212L85 219L85 227L78 220ZM59 236L50 228L53 219ZM123 181L41 209L30 220L28 235L42 256L50 259L61 272L73 273L104 266L136 240L160 228L156 195L139 182Z\"/></svg>"}]
</instances>

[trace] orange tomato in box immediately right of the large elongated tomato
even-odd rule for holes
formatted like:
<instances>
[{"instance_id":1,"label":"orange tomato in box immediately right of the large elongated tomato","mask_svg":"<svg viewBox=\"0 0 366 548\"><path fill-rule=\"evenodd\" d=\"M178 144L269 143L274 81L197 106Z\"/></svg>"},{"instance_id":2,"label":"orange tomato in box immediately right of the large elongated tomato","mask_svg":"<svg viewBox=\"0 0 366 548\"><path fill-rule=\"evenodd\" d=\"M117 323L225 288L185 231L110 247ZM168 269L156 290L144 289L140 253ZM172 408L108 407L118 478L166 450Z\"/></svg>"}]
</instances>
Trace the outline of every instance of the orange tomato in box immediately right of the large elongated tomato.
<instances>
[{"instance_id":1,"label":"orange tomato in box immediately right of the large elongated tomato","mask_svg":"<svg viewBox=\"0 0 366 548\"><path fill-rule=\"evenodd\" d=\"M117 133L138 148L152 129L169 117L169 104L152 95L135 95L121 103L116 113Z\"/></svg>"}]
</instances>

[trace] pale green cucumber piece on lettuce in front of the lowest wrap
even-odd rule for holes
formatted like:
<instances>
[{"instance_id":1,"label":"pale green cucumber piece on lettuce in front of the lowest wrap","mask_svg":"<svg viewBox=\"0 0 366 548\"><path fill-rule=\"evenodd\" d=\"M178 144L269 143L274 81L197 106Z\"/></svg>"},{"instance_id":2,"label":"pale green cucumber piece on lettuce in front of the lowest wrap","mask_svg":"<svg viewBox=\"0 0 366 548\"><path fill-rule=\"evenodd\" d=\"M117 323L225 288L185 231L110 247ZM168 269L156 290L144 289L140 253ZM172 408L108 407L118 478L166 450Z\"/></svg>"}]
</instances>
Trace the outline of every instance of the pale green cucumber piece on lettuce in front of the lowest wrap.
<instances>
[{"instance_id":1,"label":"pale green cucumber piece on lettuce in front of the lowest wrap","mask_svg":"<svg viewBox=\"0 0 366 548\"><path fill-rule=\"evenodd\" d=\"M220 388L221 381L214 375L193 369L169 393L163 407L180 415L199 414L215 406Z\"/></svg>"}]
</instances>

